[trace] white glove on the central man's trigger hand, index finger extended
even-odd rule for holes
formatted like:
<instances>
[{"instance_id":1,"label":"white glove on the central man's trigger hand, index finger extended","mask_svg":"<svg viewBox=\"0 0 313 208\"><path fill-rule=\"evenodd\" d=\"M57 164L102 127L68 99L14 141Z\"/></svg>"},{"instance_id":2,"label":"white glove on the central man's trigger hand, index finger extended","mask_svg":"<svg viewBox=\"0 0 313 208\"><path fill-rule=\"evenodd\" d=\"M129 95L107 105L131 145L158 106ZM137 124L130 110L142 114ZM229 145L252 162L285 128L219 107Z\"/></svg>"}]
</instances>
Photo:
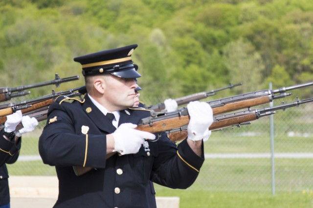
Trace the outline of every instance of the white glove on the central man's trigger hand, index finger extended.
<instances>
[{"instance_id":1,"label":"white glove on the central man's trigger hand, index finger extended","mask_svg":"<svg viewBox=\"0 0 313 208\"><path fill-rule=\"evenodd\" d=\"M137 153L144 143L145 139L156 139L156 135L149 132L135 130L137 125L132 123L121 124L115 132L112 133L114 137L114 151L121 154Z\"/></svg>"}]
</instances>

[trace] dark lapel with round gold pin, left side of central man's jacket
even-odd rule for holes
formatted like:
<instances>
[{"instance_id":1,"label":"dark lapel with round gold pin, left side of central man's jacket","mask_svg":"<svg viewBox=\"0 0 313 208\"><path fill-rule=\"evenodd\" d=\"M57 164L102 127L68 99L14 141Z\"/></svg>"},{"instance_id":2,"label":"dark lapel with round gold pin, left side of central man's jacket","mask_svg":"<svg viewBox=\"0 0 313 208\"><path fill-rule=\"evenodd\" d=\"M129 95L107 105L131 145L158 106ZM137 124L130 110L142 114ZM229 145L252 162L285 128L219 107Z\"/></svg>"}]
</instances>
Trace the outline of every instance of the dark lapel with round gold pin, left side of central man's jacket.
<instances>
[{"instance_id":1,"label":"dark lapel with round gold pin, left side of central man's jacket","mask_svg":"<svg viewBox=\"0 0 313 208\"><path fill-rule=\"evenodd\" d=\"M102 131L112 133L116 130L112 122L92 103L88 95L85 95L83 109L93 123Z\"/></svg>"}]
</instances>

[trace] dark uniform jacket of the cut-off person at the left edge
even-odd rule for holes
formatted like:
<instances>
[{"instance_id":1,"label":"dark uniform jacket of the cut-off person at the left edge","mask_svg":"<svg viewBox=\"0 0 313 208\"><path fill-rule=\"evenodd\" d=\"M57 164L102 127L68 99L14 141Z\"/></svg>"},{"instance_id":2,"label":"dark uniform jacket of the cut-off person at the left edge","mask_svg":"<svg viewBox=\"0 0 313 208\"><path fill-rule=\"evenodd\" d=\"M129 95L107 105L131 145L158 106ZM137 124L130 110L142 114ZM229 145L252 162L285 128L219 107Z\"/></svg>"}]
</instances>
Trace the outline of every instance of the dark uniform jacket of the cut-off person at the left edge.
<instances>
[{"instance_id":1,"label":"dark uniform jacket of the cut-off person at the left edge","mask_svg":"<svg viewBox=\"0 0 313 208\"><path fill-rule=\"evenodd\" d=\"M5 164L15 163L21 149L21 138L18 143L6 140L0 132L0 206L10 203L8 170Z\"/></svg>"}]
</instances>

